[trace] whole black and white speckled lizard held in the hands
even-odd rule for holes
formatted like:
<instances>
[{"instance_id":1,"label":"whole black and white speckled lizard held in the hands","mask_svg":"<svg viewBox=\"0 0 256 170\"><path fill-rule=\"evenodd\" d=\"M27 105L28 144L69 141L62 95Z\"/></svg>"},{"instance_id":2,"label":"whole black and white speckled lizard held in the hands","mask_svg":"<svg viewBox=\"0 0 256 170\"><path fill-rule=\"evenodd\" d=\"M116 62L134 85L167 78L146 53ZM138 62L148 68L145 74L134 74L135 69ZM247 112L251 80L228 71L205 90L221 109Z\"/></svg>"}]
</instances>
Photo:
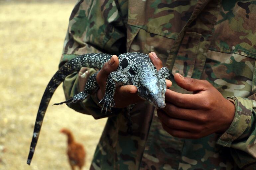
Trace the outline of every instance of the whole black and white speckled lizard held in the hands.
<instances>
[{"instance_id":1,"label":"whole black and white speckled lizard held in the hands","mask_svg":"<svg viewBox=\"0 0 256 170\"><path fill-rule=\"evenodd\" d=\"M72 72L80 70L81 67L94 67L100 69L103 67L104 63L110 60L111 57L112 55L110 54L102 53L84 54L66 62L55 73L45 89L38 109L27 164L30 165L31 163L31 159L33 157L38 141L40 129L42 127L43 118L56 88L64 81L66 76ZM117 71L109 74L106 83L105 95L99 102L103 104L101 112L104 108L106 108L105 112L107 113L107 110L111 111L111 108L115 107L113 97L116 83L120 85L135 85L138 88L138 95L142 99L149 101L156 108L164 108L166 91L165 79L170 79L169 70L166 67L163 67L157 71L149 56L143 53L124 53L119 55L118 59L119 67ZM88 78L83 92L76 94L69 100L57 103L57 105L83 101L90 94L95 93L99 88L96 82L96 75L98 72L94 73Z\"/></svg>"}]
</instances>

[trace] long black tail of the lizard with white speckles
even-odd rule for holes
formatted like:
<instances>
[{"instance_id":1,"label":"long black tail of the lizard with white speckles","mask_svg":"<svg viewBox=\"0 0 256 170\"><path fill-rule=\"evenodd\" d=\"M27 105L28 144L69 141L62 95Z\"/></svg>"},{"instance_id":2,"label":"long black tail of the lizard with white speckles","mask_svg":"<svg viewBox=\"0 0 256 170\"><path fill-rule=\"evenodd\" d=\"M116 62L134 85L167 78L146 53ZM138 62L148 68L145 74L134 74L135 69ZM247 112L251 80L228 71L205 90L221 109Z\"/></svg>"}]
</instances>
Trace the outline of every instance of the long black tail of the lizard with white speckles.
<instances>
[{"instance_id":1,"label":"long black tail of the lizard with white speckles","mask_svg":"<svg viewBox=\"0 0 256 170\"><path fill-rule=\"evenodd\" d=\"M39 138L45 112L56 88L64 81L66 76L73 73L74 71L80 70L81 67L94 67L98 69L102 68L104 63L110 60L111 56L112 55L110 54L102 53L84 54L66 62L55 73L53 78L48 83L39 105L27 164L30 165L31 163L32 157L35 152L35 147Z\"/></svg>"}]
</instances>

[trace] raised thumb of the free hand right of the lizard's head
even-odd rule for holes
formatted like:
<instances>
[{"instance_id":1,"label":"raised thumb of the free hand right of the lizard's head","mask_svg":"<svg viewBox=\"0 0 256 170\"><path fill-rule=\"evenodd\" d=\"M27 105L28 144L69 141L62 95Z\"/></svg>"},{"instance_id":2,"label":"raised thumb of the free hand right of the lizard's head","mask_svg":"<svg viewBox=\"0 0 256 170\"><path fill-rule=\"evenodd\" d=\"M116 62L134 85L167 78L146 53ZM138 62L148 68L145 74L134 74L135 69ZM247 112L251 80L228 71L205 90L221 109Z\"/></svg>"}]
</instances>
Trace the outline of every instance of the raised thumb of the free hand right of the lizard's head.
<instances>
[{"instance_id":1,"label":"raised thumb of the free hand right of the lizard's head","mask_svg":"<svg viewBox=\"0 0 256 170\"><path fill-rule=\"evenodd\" d=\"M204 91L209 88L210 83L206 80L183 77L180 73L174 74L174 80L180 87L188 91Z\"/></svg>"}]
</instances>

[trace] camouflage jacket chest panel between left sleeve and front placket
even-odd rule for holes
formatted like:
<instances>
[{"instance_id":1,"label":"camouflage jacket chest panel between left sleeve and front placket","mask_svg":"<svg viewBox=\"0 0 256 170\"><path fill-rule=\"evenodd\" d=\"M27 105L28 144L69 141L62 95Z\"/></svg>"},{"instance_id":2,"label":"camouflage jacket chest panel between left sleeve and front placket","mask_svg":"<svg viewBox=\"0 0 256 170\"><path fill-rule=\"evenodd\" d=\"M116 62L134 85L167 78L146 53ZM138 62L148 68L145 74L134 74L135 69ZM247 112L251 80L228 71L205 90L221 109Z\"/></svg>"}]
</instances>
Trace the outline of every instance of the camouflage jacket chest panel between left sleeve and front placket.
<instances>
[{"instance_id":1,"label":"camouflage jacket chest panel between left sleeve and front placket","mask_svg":"<svg viewBox=\"0 0 256 170\"><path fill-rule=\"evenodd\" d=\"M146 54L154 51L165 66L174 41L190 19L196 2L129 1L127 51Z\"/></svg>"}]
</instances>

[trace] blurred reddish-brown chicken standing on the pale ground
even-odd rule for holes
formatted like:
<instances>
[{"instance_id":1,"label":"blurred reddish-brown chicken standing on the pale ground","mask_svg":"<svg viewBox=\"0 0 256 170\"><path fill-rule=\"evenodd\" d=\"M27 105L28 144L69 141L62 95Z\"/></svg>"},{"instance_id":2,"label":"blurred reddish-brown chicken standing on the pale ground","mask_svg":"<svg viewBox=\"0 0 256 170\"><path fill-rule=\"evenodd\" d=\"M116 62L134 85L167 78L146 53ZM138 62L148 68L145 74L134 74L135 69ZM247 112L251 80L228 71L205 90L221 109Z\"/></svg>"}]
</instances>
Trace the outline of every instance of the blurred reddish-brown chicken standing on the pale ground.
<instances>
[{"instance_id":1,"label":"blurred reddish-brown chicken standing on the pale ground","mask_svg":"<svg viewBox=\"0 0 256 170\"><path fill-rule=\"evenodd\" d=\"M74 141L73 134L68 129L63 128L61 133L67 135L67 155L72 170L75 169L75 166L78 166L81 170L82 166L85 165L86 156L83 145Z\"/></svg>"}]
</instances>

